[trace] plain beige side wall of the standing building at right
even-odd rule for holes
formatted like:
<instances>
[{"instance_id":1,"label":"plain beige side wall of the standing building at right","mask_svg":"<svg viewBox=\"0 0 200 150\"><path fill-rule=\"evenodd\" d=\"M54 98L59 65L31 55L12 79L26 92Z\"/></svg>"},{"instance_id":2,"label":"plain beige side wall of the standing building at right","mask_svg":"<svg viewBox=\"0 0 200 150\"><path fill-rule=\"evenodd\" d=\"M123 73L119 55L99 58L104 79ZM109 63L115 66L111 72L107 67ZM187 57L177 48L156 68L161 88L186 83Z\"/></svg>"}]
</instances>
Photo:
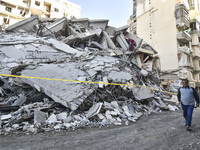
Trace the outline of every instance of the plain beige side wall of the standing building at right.
<instances>
[{"instance_id":1,"label":"plain beige side wall of the standing building at right","mask_svg":"<svg viewBox=\"0 0 200 150\"><path fill-rule=\"evenodd\" d=\"M174 0L137 0L137 34L159 54L161 70L177 69Z\"/></svg>"}]
</instances>

